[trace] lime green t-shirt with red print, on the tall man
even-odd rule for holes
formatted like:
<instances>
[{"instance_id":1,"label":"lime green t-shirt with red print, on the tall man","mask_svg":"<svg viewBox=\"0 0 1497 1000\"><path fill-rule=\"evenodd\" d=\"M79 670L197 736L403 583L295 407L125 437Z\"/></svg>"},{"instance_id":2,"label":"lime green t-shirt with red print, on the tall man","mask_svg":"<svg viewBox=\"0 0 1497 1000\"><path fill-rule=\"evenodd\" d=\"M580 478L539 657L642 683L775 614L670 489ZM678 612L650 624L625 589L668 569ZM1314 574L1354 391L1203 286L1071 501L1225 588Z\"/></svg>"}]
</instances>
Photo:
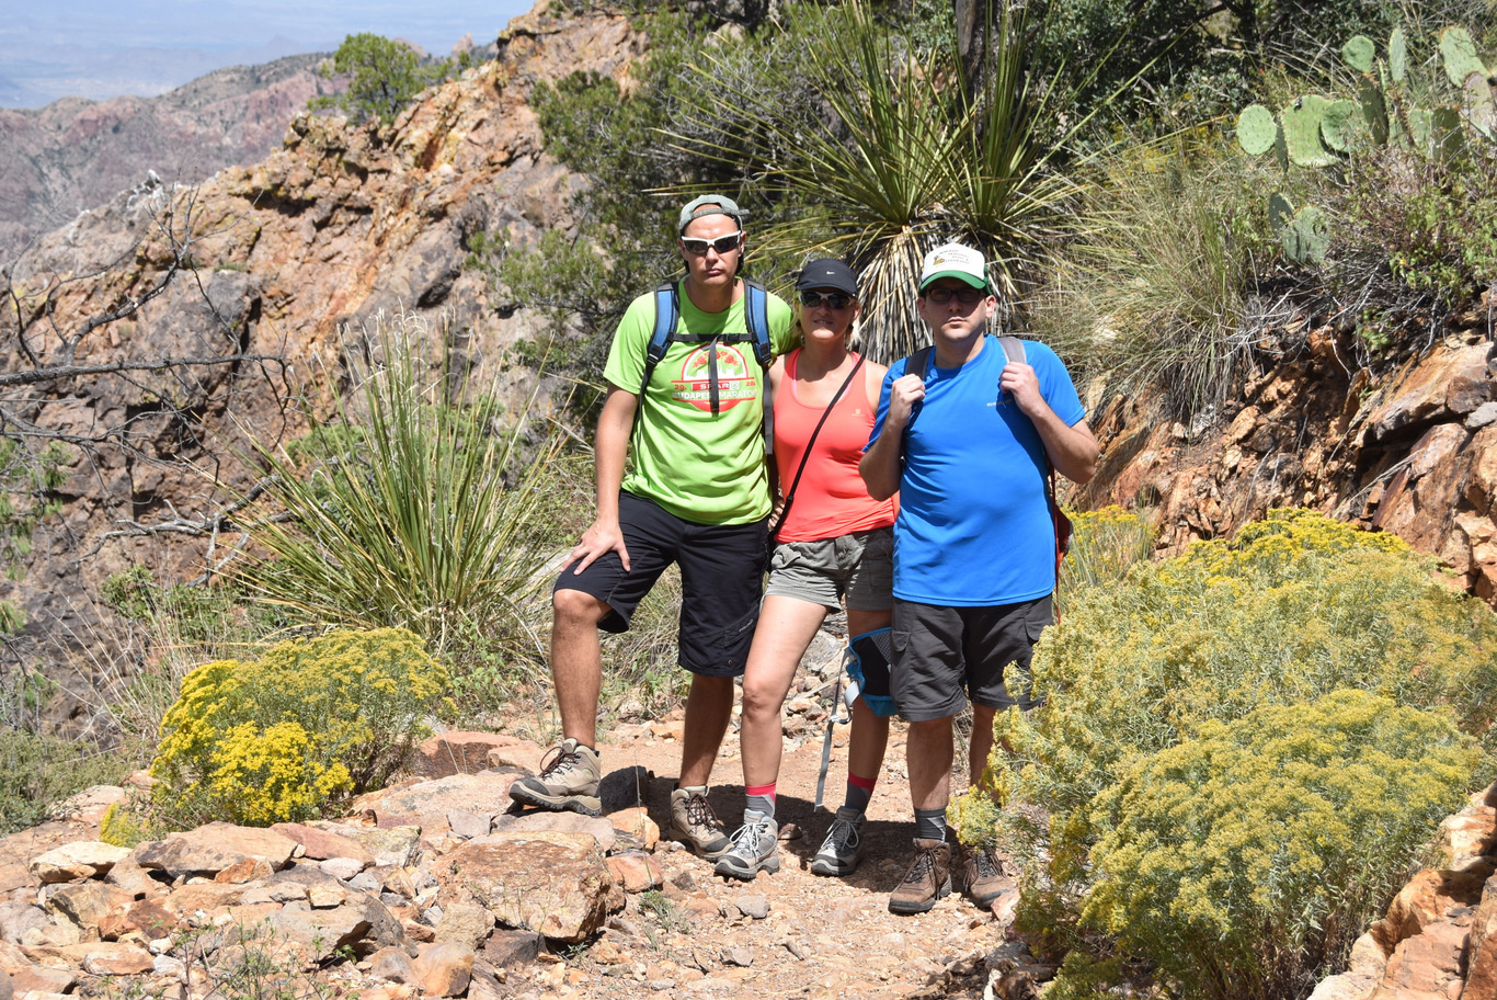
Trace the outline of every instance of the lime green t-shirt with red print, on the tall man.
<instances>
[{"instance_id":1,"label":"lime green t-shirt with red print, on the tall man","mask_svg":"<svg viewBox=\"0 0 1497 1000\"><path fill-rule=\"evenodd\" d=\"M677 335L744 334L740 296L722 313L704 313L680 289L681 319ZM603 377L629 392L639 391L645 352L654 332L654 293L629 304L608 350ZM780 355L793 344L793 314L783 299L769 295L769 344ZM708 350L717 350L719 409L713 415L708 385ZM671 341L650 376L639 401L630 439L633 467L624 490L654 500L696 524L748 524L769 513L769 479L763 464L765 371L753 341Z\"/></svg>"}]
</instances>

